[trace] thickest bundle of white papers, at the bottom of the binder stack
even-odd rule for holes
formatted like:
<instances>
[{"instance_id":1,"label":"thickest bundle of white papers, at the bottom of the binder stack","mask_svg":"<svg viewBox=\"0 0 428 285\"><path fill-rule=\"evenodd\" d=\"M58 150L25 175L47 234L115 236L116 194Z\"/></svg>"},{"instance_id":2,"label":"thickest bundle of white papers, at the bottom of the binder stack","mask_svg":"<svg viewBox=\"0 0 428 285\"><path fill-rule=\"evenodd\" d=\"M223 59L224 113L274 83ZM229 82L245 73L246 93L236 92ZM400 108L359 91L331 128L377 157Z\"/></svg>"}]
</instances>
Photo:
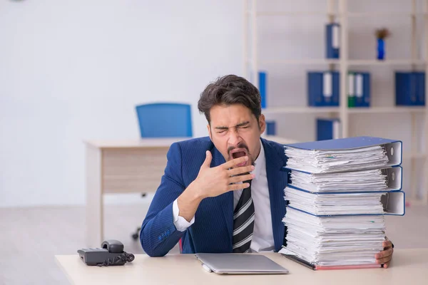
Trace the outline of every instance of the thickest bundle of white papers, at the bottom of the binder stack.
<instances>
[{"instance_id":1,"label":"thickest bundle of white papers, at the bottom of the binder stack","mask_svg":"<svg viewBox=\"0 0 428 285\"><path fill-rule=\"evenodd\" d=\"M287 247L320 266L373 264L382 251L384 217L315 217L288 208Z\"/></svg>"}]
</instances>

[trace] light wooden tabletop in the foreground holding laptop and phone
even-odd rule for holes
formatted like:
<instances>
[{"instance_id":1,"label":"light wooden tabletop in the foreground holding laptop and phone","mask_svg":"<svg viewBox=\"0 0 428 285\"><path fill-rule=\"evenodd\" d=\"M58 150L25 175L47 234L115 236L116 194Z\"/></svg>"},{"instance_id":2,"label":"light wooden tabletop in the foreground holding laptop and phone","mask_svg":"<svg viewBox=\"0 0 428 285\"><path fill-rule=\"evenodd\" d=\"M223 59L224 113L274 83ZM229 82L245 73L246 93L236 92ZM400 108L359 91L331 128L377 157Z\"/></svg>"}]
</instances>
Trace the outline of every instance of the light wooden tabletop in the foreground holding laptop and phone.
<instances>
[{"instance_id":1,"label":"light wooden tabletop in the foreground holding laptop and phone","mask_svg":"<svg viewBox=\"0 0 428 285\"><path fill-rule=\"evenodd\" d=\"M428 249L397 249L388 269L312 271L305 266L267 253L290 270L287 275L218 275L203 270L193 254L148 257L137 254L124 266L86 266L78 255L56 256L72 284L427 284Z\"/></svg>"}]
</instances>

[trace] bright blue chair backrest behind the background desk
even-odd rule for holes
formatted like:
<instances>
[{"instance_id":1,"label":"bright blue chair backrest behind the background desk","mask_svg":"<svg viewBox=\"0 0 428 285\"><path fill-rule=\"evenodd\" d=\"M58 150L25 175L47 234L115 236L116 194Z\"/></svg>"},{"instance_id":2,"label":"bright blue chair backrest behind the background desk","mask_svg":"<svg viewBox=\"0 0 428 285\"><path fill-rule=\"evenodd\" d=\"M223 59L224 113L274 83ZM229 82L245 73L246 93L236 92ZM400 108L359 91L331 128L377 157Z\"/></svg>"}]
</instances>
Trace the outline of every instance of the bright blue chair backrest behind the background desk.
<instances>
[{"instance_id":1,"label":"bright blue chair backrest behind the background desk","mask_svg":"<svg viewBox=\"0 0 428 285\"><path fill-rule=\"evenodd\" d=\"M141 138L192 137L190 105L151 103L136 106Z\"/></svg>"}]
</instances>

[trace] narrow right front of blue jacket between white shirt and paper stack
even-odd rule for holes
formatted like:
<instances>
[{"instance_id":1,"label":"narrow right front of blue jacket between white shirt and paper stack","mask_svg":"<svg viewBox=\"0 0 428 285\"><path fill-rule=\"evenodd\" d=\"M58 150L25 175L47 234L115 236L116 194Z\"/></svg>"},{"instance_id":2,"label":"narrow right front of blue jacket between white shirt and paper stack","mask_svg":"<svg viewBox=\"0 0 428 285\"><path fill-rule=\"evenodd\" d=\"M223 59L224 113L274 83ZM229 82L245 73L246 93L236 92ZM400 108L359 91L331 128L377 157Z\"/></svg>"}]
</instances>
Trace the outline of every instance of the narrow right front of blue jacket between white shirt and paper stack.
<instances>
[{"instance_id":1,"label":"narrow right front of blue jacket between white shirt and paper stack","mask_svg":"<svg viewBox=\"0 0 428 285\"><path fill-rule=\"evenodd\" d=\"M262 138L265 148L267 186L269 187L270 212L272 216L273 239L275 241L275 250L278 251L284 242L285 226L282 224L282 218L285 216L285 200L283 190L287 175L281 171L284 166L284 160L280 155L283 152L277 150L269 142Z\"/></svg>"}]
</instances>

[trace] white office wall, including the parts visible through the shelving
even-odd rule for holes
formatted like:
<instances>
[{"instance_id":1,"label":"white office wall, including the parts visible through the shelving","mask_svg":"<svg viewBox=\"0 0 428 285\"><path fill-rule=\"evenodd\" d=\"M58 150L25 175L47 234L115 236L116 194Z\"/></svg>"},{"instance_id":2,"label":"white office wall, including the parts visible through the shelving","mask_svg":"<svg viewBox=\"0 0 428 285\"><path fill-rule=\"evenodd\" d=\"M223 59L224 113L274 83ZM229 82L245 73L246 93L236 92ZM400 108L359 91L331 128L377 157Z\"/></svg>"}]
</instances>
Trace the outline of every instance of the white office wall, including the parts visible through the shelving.
<instances>
[{"instance_id":1,"label":"white office wall, including the parts visible through the shelving","mask_svg":"<svg viewBox=\"0 0 428 285\"><path fill-rule=\"evenodd\" d=\"M410 11L409 0L349 2L352 11ZM260 10L326 10L326 3L268 0ZM243 74L242 9L241 0L1 1L0 207L83 204L82 140L138 138L136 104L192 103L194 134L205 135L200 92L218 76ZM260 19L260 55L323 58L326 21ZM387 58L409 57L409 17L350 21L350 57L374 58L379 24L393 33ZM269 72L270 105L305 105L306 71L327 66L260 68ZM372 71L376 105L393 105L392 68ZM357 116L351 135L359 126L379 133ZM279 135L315 138L314 115L267 118L278 120ZM381 133L407 141L408 127L409 118L400 118Z\"/></svg>"}]
</instances>

